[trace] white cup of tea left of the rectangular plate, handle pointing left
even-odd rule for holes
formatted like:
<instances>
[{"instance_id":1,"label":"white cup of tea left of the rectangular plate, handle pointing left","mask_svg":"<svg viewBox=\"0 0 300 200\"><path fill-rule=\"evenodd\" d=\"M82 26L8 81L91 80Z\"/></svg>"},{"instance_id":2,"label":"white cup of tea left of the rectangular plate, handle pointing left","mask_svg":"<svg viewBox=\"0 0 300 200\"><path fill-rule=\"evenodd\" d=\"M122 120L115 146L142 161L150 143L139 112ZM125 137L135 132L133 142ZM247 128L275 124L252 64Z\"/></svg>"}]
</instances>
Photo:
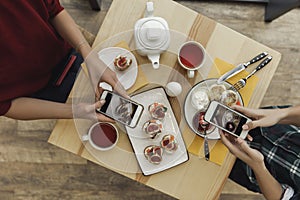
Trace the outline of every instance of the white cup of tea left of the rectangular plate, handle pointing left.
<instances>
[{"instance_id":1,"label":"white cup of tea left of the rectangular plate, handle pointing left","mask_svg":"<svg viewBox=\"0 0 300 200\"><path fill-rule=\"evenodd\" d=\"M97 122L93 124L88 134L82 136L82 141L88 141L91 146L100 151L114 148L119 139L118 129L111 123Z\"/></svg>"}]
</instances>

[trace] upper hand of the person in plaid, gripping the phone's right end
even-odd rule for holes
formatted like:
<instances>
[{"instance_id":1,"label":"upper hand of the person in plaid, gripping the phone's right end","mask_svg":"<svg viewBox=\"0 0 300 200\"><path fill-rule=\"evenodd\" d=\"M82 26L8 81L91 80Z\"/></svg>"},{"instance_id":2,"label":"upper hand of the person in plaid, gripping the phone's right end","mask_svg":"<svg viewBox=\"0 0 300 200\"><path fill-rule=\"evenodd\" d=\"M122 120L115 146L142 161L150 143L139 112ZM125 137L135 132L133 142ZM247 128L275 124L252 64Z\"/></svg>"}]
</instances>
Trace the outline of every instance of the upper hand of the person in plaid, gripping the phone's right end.
<instances>
[{"instance_id":1,"label":"upper hand of the person in plaid, gripping the phone's right end","mask_svg":"<svg viewBox=\"0 0 300 200\"><path fill-rule=\"evenodd\" d=\"M243 126L244 130L272 126L282 118L280 109L250 109L237 105L232 106L232 108L253 120Z\"/></svg>"}]
</instances>

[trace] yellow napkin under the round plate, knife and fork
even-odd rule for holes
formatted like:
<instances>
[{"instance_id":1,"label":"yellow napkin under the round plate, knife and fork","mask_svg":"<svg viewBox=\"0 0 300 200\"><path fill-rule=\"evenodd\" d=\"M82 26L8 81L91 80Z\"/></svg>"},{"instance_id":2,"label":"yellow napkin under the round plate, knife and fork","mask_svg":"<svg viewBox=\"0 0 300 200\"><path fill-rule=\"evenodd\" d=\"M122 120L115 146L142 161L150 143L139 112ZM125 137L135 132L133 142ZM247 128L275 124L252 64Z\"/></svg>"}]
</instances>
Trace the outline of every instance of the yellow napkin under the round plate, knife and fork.
<instances>
[{"instance_id":1,"label":"yellow napkin under the round plate, knife and fork","mask_svg":"<svg viewBox=\"0 0 300 200\"><path fill-rule=\"evenodd\" d=\"M214 66L209 72L208 78L218 78L233 68L235 68L234 65L229 64L219 58L216 58L214 60ZM234 84L241 78L246 77L248 74L249 73L244 70L239 74L231 77L227 81L231 84ZM251 95L256 87L257 82L258 82L258 77L254 75L251 77L251 79L247 80L246 86L239 90L243 98L244 106L247 106L249 104ZM191 144L188 146L188 151L196 156L204 157L203 144L204 144L204 139L196 135L193 141L191 142ZM218 165L222 165L228 153L227 147L224 146L222 141L220 140L209 140L209 148L210 148L210 161Z\"/></svg>"}]
</instances>

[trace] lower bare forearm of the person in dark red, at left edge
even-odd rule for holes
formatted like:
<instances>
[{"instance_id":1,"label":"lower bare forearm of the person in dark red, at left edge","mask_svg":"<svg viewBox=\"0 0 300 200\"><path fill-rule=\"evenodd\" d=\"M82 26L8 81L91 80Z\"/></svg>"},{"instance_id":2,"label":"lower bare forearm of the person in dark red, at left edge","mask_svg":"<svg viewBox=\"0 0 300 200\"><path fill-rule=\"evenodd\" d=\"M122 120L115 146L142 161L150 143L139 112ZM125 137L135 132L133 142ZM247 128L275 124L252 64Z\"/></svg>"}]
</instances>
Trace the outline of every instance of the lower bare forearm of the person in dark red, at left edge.
<instances>
[{"instance_id":1,"label":"lower bare forearm of the person in dark red, at left edge","mask_svg":"<svg viewBox=\"0 0 300 200\"><path fill-rule=\"evenodd\" d=\"M73 118L70 104L25 97L15 99L5 116L20 120Z\"/></svg>"}]
</instances>

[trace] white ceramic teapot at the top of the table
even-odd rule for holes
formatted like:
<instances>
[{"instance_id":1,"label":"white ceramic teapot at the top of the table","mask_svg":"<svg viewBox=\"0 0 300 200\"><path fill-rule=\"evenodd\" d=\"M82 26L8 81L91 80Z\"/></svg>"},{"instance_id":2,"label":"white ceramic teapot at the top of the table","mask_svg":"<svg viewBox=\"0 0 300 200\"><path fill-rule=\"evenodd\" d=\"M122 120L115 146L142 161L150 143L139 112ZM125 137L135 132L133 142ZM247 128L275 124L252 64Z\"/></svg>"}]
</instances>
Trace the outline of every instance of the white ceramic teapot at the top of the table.
<instances>
[{"instance_id":1,"label":"white ceramic teapot at the top of the table","mask_svg":"<svg viewBox=\"0 0 300 200\"><path fill-rule=\"evenodd\" d=\"M161 17L153 16L153 2L147 2L145 16L134 26L134 38L137 52L148 56L154 69L159 68L160 54L170 45L168 23Z\"/></svg>"}]
</instances>

